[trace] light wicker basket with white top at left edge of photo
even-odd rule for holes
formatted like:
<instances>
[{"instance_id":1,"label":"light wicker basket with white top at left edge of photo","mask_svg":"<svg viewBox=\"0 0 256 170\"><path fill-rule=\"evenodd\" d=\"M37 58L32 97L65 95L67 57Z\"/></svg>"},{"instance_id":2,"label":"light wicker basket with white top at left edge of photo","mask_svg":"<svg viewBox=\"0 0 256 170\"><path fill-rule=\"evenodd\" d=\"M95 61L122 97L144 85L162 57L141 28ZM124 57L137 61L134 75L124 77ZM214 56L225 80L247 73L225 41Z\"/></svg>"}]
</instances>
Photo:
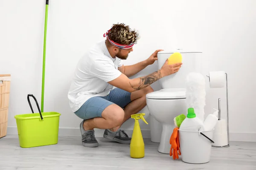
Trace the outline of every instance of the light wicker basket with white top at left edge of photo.
<instances>
[{"instance_id":1,"label":"light wicker basket with white top at left edge of photo","mask_svg":"<svg viewBox=\"0 0 256 170\"><path fill-rule=\"evenodd\" d=\"M0 138L7 133L10 83L10 74L0 74Z\"/></svg>"}]
</instances>

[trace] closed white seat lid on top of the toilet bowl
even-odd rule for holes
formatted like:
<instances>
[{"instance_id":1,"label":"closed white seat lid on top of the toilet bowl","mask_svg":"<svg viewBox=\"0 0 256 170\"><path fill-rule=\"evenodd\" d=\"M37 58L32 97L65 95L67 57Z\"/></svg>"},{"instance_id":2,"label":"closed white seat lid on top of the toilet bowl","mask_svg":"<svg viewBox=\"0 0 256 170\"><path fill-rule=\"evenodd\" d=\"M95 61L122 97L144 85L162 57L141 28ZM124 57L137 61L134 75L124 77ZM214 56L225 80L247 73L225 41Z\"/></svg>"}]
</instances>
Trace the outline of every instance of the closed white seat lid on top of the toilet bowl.
<instances>
[{"instance_id":1,"label":"closed white seat lid on top of the toilet bowl","mask_svg":"<svg viewBox=\"0 0 256 170\"><path fill-rule=\"evenodd\" d=\"M186 89L184 88L166 88L146 94L148 99L185 99Z\"/></svg>"}]
</instances>

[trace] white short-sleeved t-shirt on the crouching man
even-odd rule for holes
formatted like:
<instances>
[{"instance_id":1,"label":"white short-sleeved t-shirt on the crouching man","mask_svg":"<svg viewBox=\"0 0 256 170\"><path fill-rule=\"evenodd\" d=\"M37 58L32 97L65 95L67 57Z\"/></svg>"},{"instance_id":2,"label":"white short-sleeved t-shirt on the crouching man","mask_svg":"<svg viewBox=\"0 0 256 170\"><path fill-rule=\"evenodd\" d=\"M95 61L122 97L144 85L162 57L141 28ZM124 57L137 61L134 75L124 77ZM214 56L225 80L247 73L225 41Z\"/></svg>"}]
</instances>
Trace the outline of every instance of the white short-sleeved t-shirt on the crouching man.
<instances>
[{"instance_id":1,"label":"white short-sleeved t-shirt on the crouching man","mask_svg":"<svg viewBox=\"0 0 256 170\"><path fill-rule=\"evenodd\" d=\"M76 112L89 98L107 96L113 86L108 82L122 73L122 59L113 58L105 40L98 42L79 60L68 92L69 105Z\"/></svg>"}]
</instances>

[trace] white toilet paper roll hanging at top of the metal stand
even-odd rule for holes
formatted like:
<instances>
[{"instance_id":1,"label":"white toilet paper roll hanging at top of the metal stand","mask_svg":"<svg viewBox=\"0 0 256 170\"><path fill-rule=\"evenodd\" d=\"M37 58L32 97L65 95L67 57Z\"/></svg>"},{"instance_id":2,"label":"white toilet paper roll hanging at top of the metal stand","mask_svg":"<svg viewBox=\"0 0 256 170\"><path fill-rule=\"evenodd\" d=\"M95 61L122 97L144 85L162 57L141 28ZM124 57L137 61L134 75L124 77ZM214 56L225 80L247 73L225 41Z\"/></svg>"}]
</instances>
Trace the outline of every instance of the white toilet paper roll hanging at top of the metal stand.
<instances>
[{"instance_id":1,"label":"white toilet paper roll hanging at top of the metal stand","mask_svg":"<svg viewBox=\"0 0 256 170\"><path fill-rule=\"evenodd\" d=\"M226 81L224 71L211 71L209 72L210 88L223 88Z\"/></svg>"}]
</instances>

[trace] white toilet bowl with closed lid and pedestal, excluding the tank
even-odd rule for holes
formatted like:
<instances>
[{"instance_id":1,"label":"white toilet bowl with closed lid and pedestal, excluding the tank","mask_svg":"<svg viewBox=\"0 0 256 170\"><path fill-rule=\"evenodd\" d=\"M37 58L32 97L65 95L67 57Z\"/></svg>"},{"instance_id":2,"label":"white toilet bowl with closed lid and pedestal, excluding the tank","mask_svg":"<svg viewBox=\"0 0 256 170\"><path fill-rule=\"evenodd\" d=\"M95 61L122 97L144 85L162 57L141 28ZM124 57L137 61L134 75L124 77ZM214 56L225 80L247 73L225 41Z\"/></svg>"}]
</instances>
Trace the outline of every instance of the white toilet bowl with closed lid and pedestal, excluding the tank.
<instances>
[{"instance_id":1,"label":"white toilet bowl with closed lid and pedestal, excluding the tank","mask_svg":"<svg viewBox=\"0 0 256 170\"><path fill-rule=\"evenodd\" d=\"M186 91L182 88L169 88L146 95L148 109L154 119L162 124L158 152L170 153L170 137L175 128L173 119L186 114Z\"/></svg>"}]
</instances>

